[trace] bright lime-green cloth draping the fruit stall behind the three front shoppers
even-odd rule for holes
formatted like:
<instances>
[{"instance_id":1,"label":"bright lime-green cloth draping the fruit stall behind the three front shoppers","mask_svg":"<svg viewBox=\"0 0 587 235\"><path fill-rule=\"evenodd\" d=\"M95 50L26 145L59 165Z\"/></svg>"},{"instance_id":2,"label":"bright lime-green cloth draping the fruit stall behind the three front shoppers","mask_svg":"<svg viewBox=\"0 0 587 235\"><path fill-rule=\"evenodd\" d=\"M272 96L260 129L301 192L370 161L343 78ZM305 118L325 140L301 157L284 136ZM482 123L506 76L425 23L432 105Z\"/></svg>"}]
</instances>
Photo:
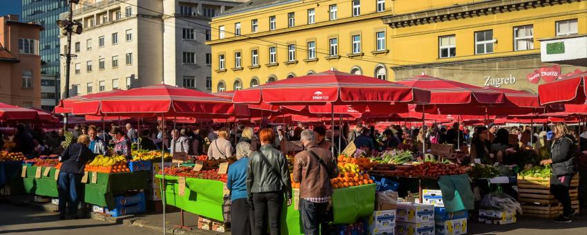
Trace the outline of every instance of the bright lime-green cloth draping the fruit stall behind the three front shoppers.
<instances>
[{"instance_id":1,"label":"bright lime-green cloth draping the fruit stall behind the three front shoppers","mask_svg":"<svg viewBox=\"0 0 587 235\"><path fill-rule=\"evenodd\" d=\"M157 175L157 178L162 178ZM177 176L165 176L166 204L186 212L198 214L215 220L224 220L224 183L218 180L185 178L184 195L180 196ZM298 189L294 189L294 194ZM300 212L296 200L282 210L282 233L302 234ZM334 189L332 204L335 224L354 223L358 218L370 216L375 207L375 184Z\"/></svg>"}]
</instances>

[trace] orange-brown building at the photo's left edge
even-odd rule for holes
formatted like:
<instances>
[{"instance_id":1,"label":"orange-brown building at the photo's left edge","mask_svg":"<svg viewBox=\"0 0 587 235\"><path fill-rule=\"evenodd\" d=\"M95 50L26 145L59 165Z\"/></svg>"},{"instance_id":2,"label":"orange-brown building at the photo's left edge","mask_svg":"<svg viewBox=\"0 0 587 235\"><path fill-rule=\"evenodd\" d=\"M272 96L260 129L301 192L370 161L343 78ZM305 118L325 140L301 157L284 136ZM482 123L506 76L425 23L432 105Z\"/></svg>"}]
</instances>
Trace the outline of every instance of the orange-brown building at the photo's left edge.
<instances>
[{"instance_id":1,"label":"orange-brown building at the photo's left edge","mask_svg":"<svg viewBox=\"0 0 587 235\"><path fill-rule=\"evenodd\" d=\"M18 15L0 17L0 102L41 106L41 30L37 23L19 22Z\"/></svg>"}]
</instances>

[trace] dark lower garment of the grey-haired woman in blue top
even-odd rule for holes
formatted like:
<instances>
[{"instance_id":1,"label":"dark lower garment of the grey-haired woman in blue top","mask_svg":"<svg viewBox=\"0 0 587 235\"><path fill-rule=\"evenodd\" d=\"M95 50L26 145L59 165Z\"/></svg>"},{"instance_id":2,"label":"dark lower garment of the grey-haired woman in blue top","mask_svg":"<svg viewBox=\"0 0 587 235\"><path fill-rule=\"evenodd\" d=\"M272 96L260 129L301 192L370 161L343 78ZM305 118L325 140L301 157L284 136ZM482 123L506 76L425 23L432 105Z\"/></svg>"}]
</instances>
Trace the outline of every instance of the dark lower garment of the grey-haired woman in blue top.
<instances>
[{"instance_id":1,"label":"dark lower garment of the grey-haired woman in blue top","mask_svg":"<svg viewBox=\"0 0 587 235\"><path fill-rule=\"evenodd\" d=\"M249 235L254 231L255 214L249 207L247 198L240 198L231 202L231 230L237 234Z\"/></svg>"}]
</instances>

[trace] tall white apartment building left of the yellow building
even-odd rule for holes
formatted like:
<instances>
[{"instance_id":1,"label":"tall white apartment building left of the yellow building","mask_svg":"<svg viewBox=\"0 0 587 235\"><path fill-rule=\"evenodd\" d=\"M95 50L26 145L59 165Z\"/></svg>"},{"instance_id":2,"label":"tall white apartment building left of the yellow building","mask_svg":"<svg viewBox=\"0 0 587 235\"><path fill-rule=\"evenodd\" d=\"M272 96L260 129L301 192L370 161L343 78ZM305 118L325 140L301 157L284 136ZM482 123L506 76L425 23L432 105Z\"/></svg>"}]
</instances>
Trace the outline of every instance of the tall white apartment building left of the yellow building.
<instances>
[{"instance_id":1,"label":"tall white apartment building left of the yellow building","mask_svg":"<svg viewBox=\"0 0 587 235\"><path fill-rule=\"evenodd\" d=\"M70 96L162 82L210 91L206 26L239 1L82 0L73 12L84 31L72 37ZM60 41L65 51L67 37Z\"/></svg>"}]
</instances>

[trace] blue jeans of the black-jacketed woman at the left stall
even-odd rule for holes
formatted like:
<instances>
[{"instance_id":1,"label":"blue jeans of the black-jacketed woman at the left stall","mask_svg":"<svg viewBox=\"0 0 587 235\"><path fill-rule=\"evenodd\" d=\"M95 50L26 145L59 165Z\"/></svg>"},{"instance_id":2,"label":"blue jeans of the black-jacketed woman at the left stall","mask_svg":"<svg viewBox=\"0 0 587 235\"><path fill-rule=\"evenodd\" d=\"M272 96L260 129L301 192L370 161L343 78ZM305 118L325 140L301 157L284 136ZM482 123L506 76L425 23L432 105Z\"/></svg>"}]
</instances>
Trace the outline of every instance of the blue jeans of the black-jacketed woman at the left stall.
<instances>
[{"instance_id":1,"label":"blue jeans of the black-jacketed woman at the left stall","mask_svg":"<svg viewBox=\"0 0 587 235\"><path fill-rule=\"evenodd\" d=\"M77 193L81 187L81 175L79 173L59 172L57 188L59 191L59 214L65 215L66 205L69 202L70 216L77 216L79 198Z\"/></svg>"}]
</instances>

